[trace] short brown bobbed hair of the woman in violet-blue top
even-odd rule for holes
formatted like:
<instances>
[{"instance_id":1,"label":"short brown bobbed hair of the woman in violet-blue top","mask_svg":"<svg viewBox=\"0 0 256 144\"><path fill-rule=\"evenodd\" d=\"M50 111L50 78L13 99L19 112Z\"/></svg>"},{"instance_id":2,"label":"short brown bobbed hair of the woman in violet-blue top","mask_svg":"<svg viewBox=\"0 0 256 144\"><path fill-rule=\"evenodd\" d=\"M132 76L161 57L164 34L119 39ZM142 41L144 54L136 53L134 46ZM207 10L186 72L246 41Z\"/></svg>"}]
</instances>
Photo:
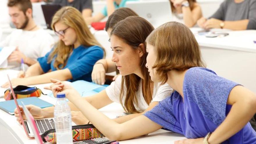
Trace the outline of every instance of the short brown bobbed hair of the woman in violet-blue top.
<instances>
[{"instance_id":1,"label":"short brown bobbed hair of the woman in violet-blue top","mask_svg":"<svg viewBox=\"0 0 256 144\"><path fill-rule=\"evenodd\" d=\"M156 68L162 83L166 83L171 70L205 67L195 36L184 24L165 23L155 29L146 42L155 48L157 59L152 68Z\"/></svg>"}]
</instances>

